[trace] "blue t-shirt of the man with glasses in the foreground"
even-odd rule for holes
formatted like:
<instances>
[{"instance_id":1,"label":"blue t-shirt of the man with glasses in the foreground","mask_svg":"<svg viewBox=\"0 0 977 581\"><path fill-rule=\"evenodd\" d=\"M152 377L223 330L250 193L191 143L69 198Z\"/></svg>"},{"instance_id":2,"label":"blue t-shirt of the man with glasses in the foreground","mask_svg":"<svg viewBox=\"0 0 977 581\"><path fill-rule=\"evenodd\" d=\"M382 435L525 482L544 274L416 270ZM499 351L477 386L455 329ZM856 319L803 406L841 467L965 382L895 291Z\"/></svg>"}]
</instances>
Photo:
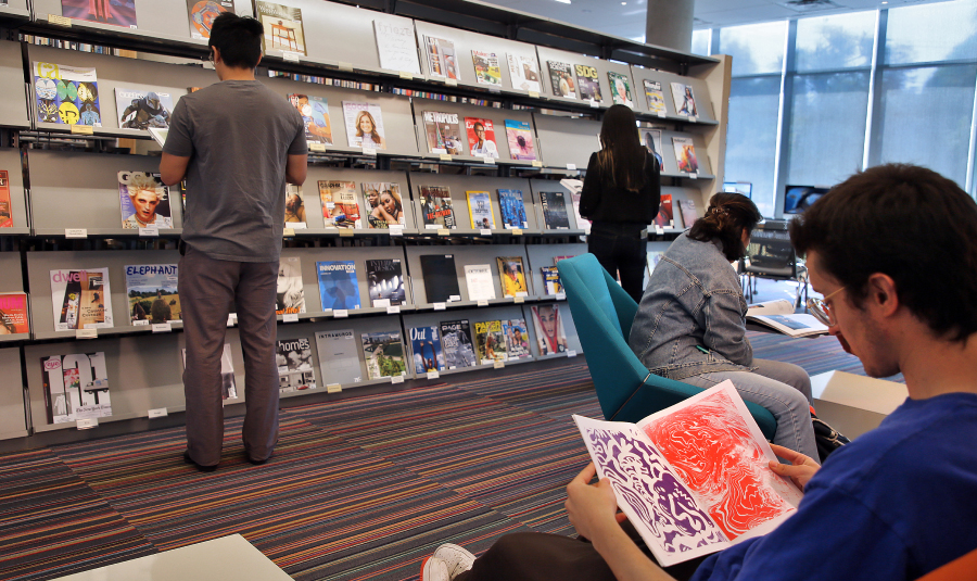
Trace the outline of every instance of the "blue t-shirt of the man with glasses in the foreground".
<instances>
[{"instance_id":1,"label":"blue t-shirt of the man with glasses in the foreground","mask_svg":"<svg viewBox=\"0 0 977 581\"><path fill-rule=\"evenodd\" d=\"M977 394L906 400L838 450L773 532L693 581L909 580L977 548Z\"/></svg>"}]
</instances>

